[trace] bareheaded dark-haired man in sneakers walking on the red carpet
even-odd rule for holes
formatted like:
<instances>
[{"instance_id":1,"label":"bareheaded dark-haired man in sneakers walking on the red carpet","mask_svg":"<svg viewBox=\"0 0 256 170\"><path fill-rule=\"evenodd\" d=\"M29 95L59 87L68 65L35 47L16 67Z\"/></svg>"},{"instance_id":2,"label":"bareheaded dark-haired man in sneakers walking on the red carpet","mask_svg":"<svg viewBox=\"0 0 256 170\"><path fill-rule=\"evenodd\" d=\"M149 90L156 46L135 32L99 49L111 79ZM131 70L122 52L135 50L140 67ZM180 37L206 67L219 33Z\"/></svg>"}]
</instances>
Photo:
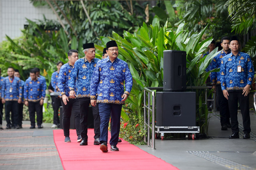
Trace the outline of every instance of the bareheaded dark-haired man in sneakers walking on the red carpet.
<instances>
[{"instance_id":1,"label":"bareheaded dark-haired man in sneakers walking on the red carpet","mask_svg":"<svg viewBox=\"0 0 256 170\"><path fill-rule=\"evenodd\" d=\"M60 68L60 73L58 77L58 87L60 89L60 100L62 104L62 125L65 140L64 142L71 142L69 137L70 129L70 117L71 113L75 116L75 126L76 126L76 135L77 141L81 142L80 134L80 110L79 110L79 101L78 98L70 98L70 90L68 88L68 80L70 79L70 72L74 67L75 62L78 60L78 51L69 50L68 51L68 63L64 64ZM76 92L76 86L74 87Z\"/></svg>"}]
</instances>

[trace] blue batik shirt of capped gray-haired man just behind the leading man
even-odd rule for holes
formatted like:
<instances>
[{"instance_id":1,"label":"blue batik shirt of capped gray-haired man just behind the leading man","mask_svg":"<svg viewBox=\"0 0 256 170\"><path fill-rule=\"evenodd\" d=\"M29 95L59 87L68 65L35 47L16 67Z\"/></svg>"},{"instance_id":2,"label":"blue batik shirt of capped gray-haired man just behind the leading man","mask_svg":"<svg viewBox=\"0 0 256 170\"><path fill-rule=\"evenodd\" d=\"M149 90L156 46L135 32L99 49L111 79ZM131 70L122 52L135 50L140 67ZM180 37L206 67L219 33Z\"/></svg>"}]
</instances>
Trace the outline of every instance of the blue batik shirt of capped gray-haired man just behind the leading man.
<instances>
[{"instance_id":1,"label":"blue batik shirt of capped gray-haired man just behind the leading man","mask_svg":"<svg viewBox=\"0 0 256 170\"><path fill-rule=\"evenodd\" d=\"M68 80L68 86L70 90L74 90L76 85L77 98L90 97L92 73L98 61L100 61L100 59L94 58L91 63L89 63L86 57L84 57L78 59L74 64L74 68L70 73L70 80Z\"/></svg>"}]
</instances>

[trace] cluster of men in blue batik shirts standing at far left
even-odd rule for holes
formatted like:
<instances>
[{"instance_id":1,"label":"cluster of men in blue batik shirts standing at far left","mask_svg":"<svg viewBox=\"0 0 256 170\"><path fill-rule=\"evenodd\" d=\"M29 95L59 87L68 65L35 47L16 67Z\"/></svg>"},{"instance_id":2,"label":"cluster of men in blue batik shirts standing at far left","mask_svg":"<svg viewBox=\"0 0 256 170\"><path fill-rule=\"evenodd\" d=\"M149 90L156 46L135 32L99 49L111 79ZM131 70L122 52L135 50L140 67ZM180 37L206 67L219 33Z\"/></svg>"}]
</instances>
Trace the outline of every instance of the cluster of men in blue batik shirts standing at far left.
<instances>
[{"instance_id":1,"label":"cluster of men in blue batik shirts standing at far left","mask_svg":"<svg viewBox=\"0 0 256 170\"><path fill-rule=\"evenodd\" d=\"M7 77L0 78L0 129L3 129L3 104L5 106L6 129L11 129L12 127L14 129L22 128L24 104L28 106L31 122L30 129L35 128L35 112L37 115L37 126L39 129L43 128L42 105L45 97L46 80L40 75L39 68L30 70L30 77L25 82L20 80L20 72L12 67L7 69L7 74Z\"/></svg>"}]
</instances>

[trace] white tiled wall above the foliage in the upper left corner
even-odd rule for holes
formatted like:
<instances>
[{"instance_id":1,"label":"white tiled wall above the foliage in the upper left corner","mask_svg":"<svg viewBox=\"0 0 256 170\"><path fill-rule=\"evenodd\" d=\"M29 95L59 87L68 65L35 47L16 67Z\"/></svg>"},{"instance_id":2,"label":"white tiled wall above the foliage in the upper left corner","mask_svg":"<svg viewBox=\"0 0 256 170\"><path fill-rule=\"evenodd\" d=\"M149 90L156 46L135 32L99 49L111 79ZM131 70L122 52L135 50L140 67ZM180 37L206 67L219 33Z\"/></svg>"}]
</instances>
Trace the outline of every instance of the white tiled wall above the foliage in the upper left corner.
<instances>
[{"instance_id":1,"label":"white tiled wall above the foliage in the upper left corner","mask_svg":"<svg viewBox=\"0 0 256 170\"><path fill-rule=\"evenodd\" d=\"M29 20L43 20L43 14L48 20L57 20L51 9L34 7L30 0L0 0L0 42L5 40L5 35L16 38L20 37L21 29Z\"/></svg>"}]
</instances>

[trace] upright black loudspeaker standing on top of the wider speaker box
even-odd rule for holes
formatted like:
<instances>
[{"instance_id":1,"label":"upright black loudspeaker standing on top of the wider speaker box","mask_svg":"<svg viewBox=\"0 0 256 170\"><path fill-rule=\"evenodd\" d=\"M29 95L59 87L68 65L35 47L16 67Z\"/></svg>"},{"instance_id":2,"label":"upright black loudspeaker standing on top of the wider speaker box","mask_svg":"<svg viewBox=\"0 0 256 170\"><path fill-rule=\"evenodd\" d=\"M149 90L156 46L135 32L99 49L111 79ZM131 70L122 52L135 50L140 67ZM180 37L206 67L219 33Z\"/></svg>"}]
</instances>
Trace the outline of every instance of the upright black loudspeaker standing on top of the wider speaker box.
<instances>
[{"instance_id":1,"label":"upright black loudspeaker standing on top of the wider speaker box","mask_svg":"<svg viewBox=\"0 0 256 170\"><path fill-rule=\"evenodd\" d=\"M186 51L164 51L164 91L186 89Z\"/></svg>"}]
</instances>

